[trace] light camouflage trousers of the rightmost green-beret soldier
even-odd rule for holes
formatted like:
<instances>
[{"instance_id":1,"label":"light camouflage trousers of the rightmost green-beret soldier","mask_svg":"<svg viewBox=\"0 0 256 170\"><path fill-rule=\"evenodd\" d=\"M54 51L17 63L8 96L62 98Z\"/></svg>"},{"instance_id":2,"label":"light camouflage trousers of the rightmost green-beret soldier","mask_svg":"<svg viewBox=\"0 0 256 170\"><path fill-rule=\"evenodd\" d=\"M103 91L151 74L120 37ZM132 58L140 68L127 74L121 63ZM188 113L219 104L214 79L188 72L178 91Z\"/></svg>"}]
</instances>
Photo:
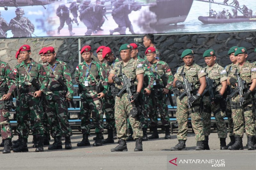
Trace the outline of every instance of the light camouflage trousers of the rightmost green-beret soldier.
<instances>
[{"instance_id":1,"label":"light camouflage trousers of the rightmost green-beret soldier","mask_svg":"<svg viewBox=\"0 0 256 170\"><path fill-rule=\"evenodd\" d=\"M234 135L237 136L244 136L244 121L245 121L245 133L246 136L254 136L255 135L255 122L254 122L254 113L252 110L252 97L250 99L246 100L244 103L243 109L234 109L232 108L232 105L236 105L240 107L239 105L239 99L240 96L236 95L234 98L232 98L232 102L235 102L236 104L231 103L231 109L232 109L232 118L234 122ZM244 120L243 120L244 115Z\"/></svg>"}]
</instances>

